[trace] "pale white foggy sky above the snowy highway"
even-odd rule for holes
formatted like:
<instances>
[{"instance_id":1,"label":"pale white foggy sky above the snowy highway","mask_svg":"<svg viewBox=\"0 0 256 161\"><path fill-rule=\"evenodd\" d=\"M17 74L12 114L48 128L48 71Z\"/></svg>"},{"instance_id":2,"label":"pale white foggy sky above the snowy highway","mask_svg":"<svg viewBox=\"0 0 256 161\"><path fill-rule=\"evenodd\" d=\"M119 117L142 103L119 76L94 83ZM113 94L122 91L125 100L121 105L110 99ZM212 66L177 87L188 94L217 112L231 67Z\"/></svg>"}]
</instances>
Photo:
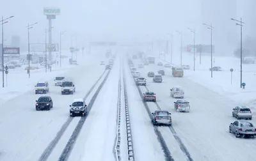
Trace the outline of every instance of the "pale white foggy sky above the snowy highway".
<instances>
[{"instance_id":1,"label":"pale white foggy sky above the snowy highway","mask_svg":"<svg viewBox=\"0 0 256 161\"><path fill-rule=\"evenodd\" d=\"M204 13L206 14L204 16L202 16L202 0L2 1L0 15L15 16L9 20L8 24L4 24L4 39L6 43L10 43L12 35L20 35L22 44L28 42L26 26L34 22L38 24L31 29L31 43L44 43L45 28L48 28L48 22L43 13L44 7L61 9L61 15L56 16L56 20L52 21L52 26L54 26L52 43L59 43L60 31L67 30L67 33L63 35L63 43L67 46L70 45L72 36L74 40L74 34L77 35L77 46L90 40L168 39L168 34L173 34L173 40L177 42L179 35L175 33L176 30L182 31L184 44L193 43L193 34L188 31L187 27L196 29L196 43L210 43L207 42L210 40L209 31L202 27L202 23L212 23L214 26L216 35L214 42L221 41L225 44L228 40L235 39L232 43L236 43L237 35L234 38L230 35L238 34L239 36L239 28L230 22L232 18L230 16L239 19L243 15L243 7L228 5L221 0L204 0L211 4L215 3L214 6L207 8L209 12ZM228 3L232 1L228 0ZM236 10L236 14L228 14L227 10ZM209 14L209 19L205 18L207 14ZM220 35L228 40L223 41Z\"/></svg>"}]
</instances>

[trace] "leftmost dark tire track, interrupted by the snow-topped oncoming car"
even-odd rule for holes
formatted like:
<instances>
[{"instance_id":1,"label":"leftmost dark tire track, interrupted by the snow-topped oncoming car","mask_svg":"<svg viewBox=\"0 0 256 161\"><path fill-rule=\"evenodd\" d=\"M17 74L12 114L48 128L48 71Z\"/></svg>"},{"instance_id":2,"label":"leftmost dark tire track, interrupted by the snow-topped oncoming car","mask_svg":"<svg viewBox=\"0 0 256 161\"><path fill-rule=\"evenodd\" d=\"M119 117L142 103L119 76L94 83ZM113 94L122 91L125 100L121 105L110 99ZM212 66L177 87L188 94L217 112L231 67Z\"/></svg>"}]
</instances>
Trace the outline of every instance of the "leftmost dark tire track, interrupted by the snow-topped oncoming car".
<instances>
[{"instance_id":1,"label":"leftmost dark tire track, interrupted by the snow-topped oncoming car","mask_svg":"<svg viewBox=\"0 0 256 161\"><path fill-rule=\"evenodd\" d=\"M98 84L98 82L100 81L100 79L103 77L104 73L106 73L106 70L104 70L104 72L102 73L102 75L100 75L99 79L95 82L95 84L93 84L92 88L90 88L90 90L86 93L86 95L84 96L84 99L86 100L86 98L92 93L93 89L95 88L95 86ZM106 75L107 77L108 75ZM106 78L105 77L105 78ZM42 155L40 156L40 158L38 159L38 161L46 161L49 156L51 155L52 151L54 150L54 148L56 147L56 144L58 144L58 142L60 141L62 135L64 134L64 132L67 130L68 125L70 125L71 121L73 120L73 118L71 118L70 116L68 116L68 119L65 121L65 123L62 125L62 127L60 128L60 130L58 131L58 133L56 134L56 136L54 137L54 139L52 139L52 141L50 142L50 144L47 146L47 148L45 148L44 152L42 153Z\"/></svg>"}]
</instances>

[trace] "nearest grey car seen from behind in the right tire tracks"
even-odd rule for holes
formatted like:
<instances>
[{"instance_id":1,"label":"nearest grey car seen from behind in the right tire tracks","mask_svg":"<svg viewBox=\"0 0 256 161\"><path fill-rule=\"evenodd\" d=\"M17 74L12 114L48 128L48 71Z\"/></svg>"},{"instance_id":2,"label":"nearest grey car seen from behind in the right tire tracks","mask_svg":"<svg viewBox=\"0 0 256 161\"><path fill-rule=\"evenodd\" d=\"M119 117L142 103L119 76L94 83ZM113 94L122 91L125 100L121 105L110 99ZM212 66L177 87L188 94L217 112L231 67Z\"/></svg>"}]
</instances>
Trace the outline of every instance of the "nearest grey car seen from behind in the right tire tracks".
<instances>
[{"instance_id":1,"label":"nearest grey car seen from behind in the right tire tracks","mask_svg":"<svg viewBox=\"0 0 256 161\"><path fill-rule=\"evenodd\" d=\"M153 125L172 125L171 113L165 110L152 112Z\"/></svg>"}]
</instances>

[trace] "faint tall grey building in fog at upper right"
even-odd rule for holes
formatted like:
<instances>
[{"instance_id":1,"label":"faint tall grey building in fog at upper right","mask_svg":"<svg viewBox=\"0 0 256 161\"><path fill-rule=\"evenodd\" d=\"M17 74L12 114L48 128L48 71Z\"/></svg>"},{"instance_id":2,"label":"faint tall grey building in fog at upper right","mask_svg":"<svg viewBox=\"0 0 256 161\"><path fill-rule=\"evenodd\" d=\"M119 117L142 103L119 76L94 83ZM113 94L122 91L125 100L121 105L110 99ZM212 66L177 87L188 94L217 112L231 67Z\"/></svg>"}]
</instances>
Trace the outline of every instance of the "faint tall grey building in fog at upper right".
<instances>
[{"instance_id":1,"label":"faint tall grey building in fog at upper right","mask_svg":"<svg viewBox=\"0 0 256 161\"><path fill-rule=\"evenodd\" d=\"M236 22L230 20L237 19L236 0L201 0L202 23L211 24L212 43L215 45L216 54L232 54L239 42L239 28ZM211 43L211 34L206 26L201 28L201 42Z\"/></svg>"}]
</instances>

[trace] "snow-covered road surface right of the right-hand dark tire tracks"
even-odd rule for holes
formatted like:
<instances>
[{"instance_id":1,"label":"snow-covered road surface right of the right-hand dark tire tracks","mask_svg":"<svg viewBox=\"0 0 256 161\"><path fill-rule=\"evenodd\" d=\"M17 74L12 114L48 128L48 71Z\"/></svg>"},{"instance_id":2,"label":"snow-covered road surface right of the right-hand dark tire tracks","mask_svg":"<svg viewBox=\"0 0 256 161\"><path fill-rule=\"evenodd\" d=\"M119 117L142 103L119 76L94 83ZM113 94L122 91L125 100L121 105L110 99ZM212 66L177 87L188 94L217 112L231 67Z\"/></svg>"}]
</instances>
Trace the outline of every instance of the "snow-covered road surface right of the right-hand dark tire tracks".
<instances>
[{"instance_id":1,"label":"snow-covered road surface right of the right-hand dark tire tracks","mask_svg":"<svg viewBox=\"0 0 256 161\"><path fill-rule=\"evenodd\" d=\"M147 87L157 94L157 103L161 109L172 111L173 128L187 146L192 158L195 160L200 158L243 160L244 156L253 158L252 147L256 146L255 141L237 140L234 135L228 133L228 125L234 121L230 115L230 109L233 107L231 100L186 78L166 75L164 80L166 83L148 82ZM174 111L173 102L177 99L170 97L170 88L176 85L184 88L184 100L188 100L191 105L190 113ZM243 150L239 148L241 145L245 147ZM238 150L243 151L243 155L236 153Z\"/></svg>"}]
</instances>

